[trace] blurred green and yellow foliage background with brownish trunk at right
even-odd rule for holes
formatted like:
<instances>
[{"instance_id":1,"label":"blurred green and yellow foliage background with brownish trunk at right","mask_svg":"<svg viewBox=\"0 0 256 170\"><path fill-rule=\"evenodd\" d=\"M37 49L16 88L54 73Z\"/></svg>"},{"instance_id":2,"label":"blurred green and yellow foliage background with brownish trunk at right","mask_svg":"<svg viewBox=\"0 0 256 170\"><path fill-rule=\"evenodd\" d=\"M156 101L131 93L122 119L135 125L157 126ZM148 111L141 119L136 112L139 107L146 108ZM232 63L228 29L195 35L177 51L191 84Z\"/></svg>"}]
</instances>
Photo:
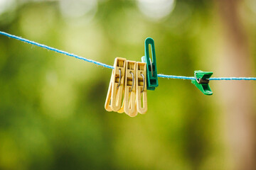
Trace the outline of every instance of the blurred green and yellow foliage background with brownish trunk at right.
<instances>
[{"instance_id":1,"label":"blurred green and yellow foliage background with brownish trunk at right","mask_svg":"<svg viewBox=\"0 0 256 170\"><path fill-rule=\"evenodd\" d=\"M256 1L0 0L0 30L112 65L154 38L159 74L254 77ZM159 78L105 111L111 69L0 36L0 169L256 169L255 82Z\"/></svg>"}]
</instances>

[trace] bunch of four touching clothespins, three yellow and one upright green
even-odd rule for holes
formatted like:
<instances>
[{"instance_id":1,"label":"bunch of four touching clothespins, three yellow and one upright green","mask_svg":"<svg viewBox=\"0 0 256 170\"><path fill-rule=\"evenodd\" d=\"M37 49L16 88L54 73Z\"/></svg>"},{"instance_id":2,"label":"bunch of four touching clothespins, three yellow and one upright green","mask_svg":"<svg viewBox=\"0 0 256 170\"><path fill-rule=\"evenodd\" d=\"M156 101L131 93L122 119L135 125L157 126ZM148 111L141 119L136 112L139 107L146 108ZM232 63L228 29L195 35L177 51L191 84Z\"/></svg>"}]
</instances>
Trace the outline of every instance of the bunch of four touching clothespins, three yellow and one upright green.
<instances>
[{"instance_id":1,"label":"bunch of four touching clothespins, three yellow and one upright green","mask_svg":"<svg viewBox=\"0 0 256 170\"><path fill-rule=\"evenodd\" d=\"M151 45L153 62L149 57L149 45ZM157 86L154 40L146 38L142 62L129 61L120 57L114 60L105 109L127 113L131 117L136 116L138 112L144 114L147 111L146 90L154 90Z\"/></svg>"}]
</instances>

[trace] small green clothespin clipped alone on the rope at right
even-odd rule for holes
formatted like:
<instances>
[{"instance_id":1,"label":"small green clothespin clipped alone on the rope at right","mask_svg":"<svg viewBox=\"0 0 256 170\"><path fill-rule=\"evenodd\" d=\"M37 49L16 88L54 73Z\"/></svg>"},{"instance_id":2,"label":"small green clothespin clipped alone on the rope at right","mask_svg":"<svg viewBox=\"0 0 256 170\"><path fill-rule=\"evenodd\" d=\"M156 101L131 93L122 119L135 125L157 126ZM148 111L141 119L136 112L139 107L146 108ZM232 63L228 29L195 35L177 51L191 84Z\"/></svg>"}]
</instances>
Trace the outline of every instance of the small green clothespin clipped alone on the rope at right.
<instances>
[{"instance_id":1,"label":"small green clothespin clipped alone on the rope at right","mask_svg":"<svg viewBox=\"0 0 256 170\"><path fill-rule=\"evenodd\" d=\"M191 82L195 84L203 94L212 95L213 91L210 89L209 79L211 75L213 75L213 72L202 72L201 70L198 70L194 72L194 75L196 79L191 80Z\"/></svg>"}]
</instances>

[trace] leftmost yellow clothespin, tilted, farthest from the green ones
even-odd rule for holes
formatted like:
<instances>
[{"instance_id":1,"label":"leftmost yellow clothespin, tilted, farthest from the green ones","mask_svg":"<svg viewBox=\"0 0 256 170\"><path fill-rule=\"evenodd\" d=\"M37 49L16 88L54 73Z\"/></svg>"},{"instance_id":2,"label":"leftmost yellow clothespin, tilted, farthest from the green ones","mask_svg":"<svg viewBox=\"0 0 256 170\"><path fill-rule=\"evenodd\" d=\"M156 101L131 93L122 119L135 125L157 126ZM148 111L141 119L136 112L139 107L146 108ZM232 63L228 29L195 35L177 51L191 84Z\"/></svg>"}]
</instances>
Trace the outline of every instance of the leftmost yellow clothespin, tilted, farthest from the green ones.
<instances>
[{"instance_id":1,"label":"leftmost yellow clothespin, tilted, farthest from the green ones","mask_svg":"<svg viewBox=\"0 0 256 170\"><path fill-rule=\"evenodd\" d=\"M107 91L105 109L107 111L119 111L122 106L122 95L124 91L126 59L117 57L114 60L114 69L110 79L110 86Z\"/></svg>"}]
</instances>

